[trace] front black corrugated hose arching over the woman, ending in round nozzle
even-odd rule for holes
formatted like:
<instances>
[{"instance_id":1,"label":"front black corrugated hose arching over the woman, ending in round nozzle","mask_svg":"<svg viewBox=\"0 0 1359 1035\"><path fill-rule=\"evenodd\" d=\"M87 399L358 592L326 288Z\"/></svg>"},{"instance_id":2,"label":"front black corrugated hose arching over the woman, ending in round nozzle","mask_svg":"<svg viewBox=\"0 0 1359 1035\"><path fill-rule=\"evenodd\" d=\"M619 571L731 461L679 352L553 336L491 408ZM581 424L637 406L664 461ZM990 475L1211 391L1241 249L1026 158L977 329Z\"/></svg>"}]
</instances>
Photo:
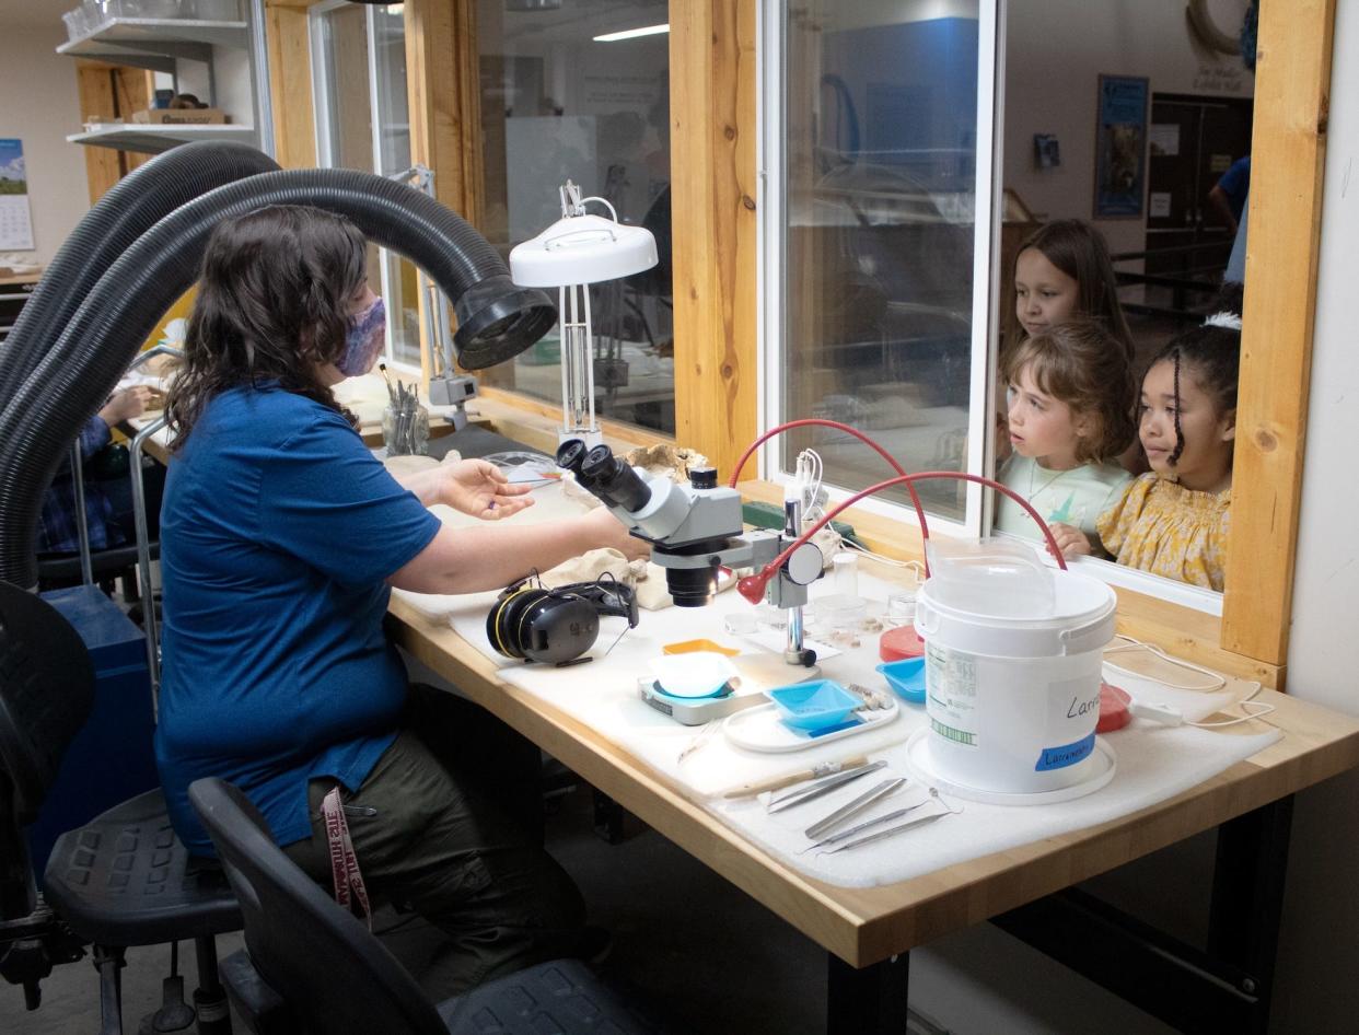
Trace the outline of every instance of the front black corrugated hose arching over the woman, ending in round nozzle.
<instances>
[{"instance_id":1,"label":"front black corrugated hose arching over the woman, ending in round nozzle","mask_svg":"<svg viewBox=\"0 0 1359 1035\"><path fill-rule=\"evenodd\" d=\"M287 170L230 183L166 216L99 280L0 413L0 580L37 584L42 494L80 425L107 397L166 308L194 283L208 234L265 205L348 216L423 268L453 299L454 345L480 369L518 355L556 322L552 300L519 288L467 223L419 190L353 170Z\"/></svg>"}]
</instances>

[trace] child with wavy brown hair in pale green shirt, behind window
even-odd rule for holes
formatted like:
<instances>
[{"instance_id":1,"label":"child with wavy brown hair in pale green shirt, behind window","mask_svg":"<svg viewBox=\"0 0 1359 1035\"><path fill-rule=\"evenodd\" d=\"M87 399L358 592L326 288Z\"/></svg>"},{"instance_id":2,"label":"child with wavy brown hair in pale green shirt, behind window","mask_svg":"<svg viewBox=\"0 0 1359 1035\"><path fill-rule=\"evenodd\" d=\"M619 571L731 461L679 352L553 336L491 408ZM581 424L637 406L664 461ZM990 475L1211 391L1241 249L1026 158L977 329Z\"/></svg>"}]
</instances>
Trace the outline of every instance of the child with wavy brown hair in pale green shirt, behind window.
<instances>
[{"instance_id":1,"label":"child with wavy brown hair in pale green shirt, behind window","mask_svg":"<svg viewBox=\"0 0 1359 1035\"><path fill-rule=\"evenodd\" d=\"M1132 481L1117 463L1136 432L1127 353L1098 321L1065 321L1012 348L1003 375L1011 454L1000 481L1046 518L1063 557L1105 556L1095 519ZM995 527L1040 538L1010 498Z\"/></svg>"}]
</instances>

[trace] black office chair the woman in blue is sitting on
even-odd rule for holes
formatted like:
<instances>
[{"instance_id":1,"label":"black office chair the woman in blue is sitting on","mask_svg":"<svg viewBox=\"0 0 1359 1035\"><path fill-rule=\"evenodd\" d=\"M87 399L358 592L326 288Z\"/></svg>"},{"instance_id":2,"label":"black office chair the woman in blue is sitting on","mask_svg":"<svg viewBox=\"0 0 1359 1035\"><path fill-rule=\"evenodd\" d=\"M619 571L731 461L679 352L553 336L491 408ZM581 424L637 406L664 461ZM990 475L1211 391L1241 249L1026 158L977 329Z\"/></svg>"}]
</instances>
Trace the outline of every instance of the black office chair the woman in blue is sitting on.
<instances>
[{"instance_id":1,"label":"black office chair the woman in blue is sitting on","mask_svg":"<svg viewBox=\"0 0 1359 1035\"><path fill-rule=\"evenodd\" d=\"M160 791L139 795L63 834L38 894L23 827L56 780L94 701L94 667L79 634L45 600L0 583L0 974L24 986L29 1009L52 963L94 944L102 1032L121 1032L124 949L194 939L198 1031L228 1032L213 934L241 929L241 910L220 867L196 865L175 838ZM188 1027L194 1012L182 979L166 979L156 1031Z\"/></svg>"}]
</instances>

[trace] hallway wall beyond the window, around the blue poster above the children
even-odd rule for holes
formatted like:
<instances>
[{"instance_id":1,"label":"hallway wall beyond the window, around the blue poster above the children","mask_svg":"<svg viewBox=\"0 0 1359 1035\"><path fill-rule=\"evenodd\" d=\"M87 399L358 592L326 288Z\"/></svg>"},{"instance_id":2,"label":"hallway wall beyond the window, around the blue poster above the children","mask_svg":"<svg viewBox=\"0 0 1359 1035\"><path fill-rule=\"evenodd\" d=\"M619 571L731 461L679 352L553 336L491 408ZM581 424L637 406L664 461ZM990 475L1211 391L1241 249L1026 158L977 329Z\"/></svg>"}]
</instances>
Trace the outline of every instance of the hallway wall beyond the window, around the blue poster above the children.
<instances>
[{"instance_id":1,"label":"hallway wall beyond the window, around the blue poster above the children","mask_svg":"<svg viewBox=\"0 0 1359 1035\"><path fill-rule=\"evenodd\" d=\"M1219 26L1231 24L1233 12L1239 23L1245 7L1246 0L1208 4ZM1190 42L1185 0L1011 0L1006 35L1004 186L1042 219L1093 215L1101 73L1147 76L1150 94L1254 94L1239 57ZM1057 136L1057 168L1034 167L1034 133ZM1146 219L1095 225L1114 253L1144 247Z\"/></svg>"}]
</instances>

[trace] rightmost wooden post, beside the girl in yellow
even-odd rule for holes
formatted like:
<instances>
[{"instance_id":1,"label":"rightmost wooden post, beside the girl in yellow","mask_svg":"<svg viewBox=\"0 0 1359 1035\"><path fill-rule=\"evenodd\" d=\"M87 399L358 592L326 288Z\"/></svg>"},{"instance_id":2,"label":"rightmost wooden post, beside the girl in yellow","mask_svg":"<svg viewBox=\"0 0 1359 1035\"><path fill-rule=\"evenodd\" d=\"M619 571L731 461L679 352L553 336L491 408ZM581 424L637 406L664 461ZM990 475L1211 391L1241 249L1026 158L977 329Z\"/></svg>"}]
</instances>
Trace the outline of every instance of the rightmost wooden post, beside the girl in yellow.
<instances>
[{"instance_id":1,"label":"rightmost wooden post, beside the girl in yellow","mask_svg":"<svg viewBox=\"0 0 1359 1035\"><path fill-rule=\"evenodd\" d=\"M1307 435L1335 0L1261 4L1222 645L1283 664Z\"/></svg>"}]
</instances>

